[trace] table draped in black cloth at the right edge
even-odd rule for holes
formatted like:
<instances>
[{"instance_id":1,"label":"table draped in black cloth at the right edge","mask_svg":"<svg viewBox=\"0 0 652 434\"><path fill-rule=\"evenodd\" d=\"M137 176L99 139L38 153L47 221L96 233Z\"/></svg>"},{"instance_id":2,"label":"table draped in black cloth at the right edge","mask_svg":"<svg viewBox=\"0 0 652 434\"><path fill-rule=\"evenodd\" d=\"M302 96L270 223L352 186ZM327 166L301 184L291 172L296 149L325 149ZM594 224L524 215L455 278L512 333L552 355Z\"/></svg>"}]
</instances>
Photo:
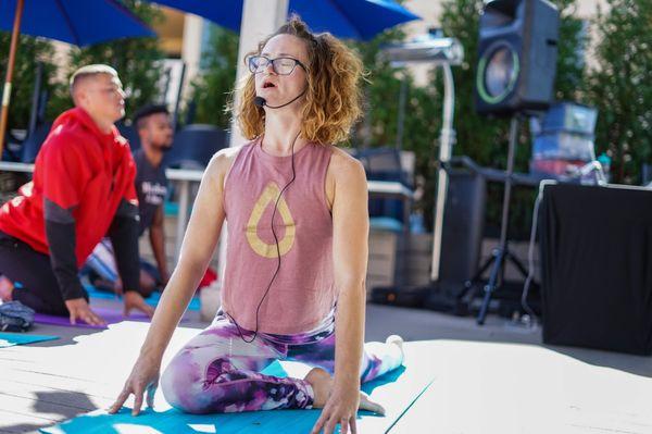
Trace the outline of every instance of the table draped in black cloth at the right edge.
<instances>
[{"instance_id":1,"label":"table draped in black cloth at the right edge","mask_svg":"<svg viewBox=\"0 0 652 434\"><path fill-rule=\"evenodd\" d=\"M652 190L548 185L543 342L652 355Z\"/></svg>"}]
</instances>

